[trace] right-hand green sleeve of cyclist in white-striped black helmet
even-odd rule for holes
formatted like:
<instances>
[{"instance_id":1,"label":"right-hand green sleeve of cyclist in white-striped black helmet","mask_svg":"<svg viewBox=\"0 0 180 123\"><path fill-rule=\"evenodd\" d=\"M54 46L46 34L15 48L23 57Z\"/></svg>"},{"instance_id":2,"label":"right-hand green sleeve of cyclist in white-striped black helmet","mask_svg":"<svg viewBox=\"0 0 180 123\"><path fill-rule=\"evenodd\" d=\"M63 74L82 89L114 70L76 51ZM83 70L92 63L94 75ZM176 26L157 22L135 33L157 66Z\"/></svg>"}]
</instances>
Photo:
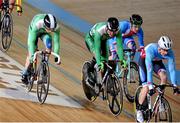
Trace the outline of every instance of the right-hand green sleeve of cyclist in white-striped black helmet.
<instances>
[{"instance_id":1,"label":"right-hand green sleeve of cyclist in white-striped black helmet","mask_svg":"<svg viewBox=\"0 0 180 123\"><path fill-rule=\"evenodd\" d=\"M54 52L59 55L59 51L60 51L60 28L54 32L53 41L54 41Z\"/></svg>"}]
</instances>

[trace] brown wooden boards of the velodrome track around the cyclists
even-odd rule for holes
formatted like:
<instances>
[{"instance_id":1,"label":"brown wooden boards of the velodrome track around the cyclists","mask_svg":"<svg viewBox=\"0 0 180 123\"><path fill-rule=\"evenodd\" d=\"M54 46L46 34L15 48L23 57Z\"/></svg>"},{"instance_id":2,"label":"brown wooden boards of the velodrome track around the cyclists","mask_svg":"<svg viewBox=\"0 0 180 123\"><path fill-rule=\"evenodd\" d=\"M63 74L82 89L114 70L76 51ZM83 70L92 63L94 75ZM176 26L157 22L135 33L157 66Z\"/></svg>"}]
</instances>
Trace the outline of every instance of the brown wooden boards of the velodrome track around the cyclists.
<instances>
[{"instance_id":1,"label":"brown wooden boards of the velodrome track around the cyclists","mask_svg":"<svg viewBox=\"0 0 180 123\"><path fill-rule=\"evenodd\" d=\"M132 13L139 13L144 18L145 44L153 42L161 34L168 34L174 41L177 68L180 69L180 56L178 46L180 44L180 1L174 0L52 0L62 8L85 19L91 23L104 21L109 16L119 19L128 18ZM24 13L17 17L14 13L14 40L8 55L24 65L27 54L26 46L28 25L32 17L40 13L37 9L23 3ZM91 58L91 54L85 48L83 36L61 24L61 58L63 71L51 67L51 84L78 102L82 108L72 108L60 105L34 103L9 98L0 98L0 121L134 121L132 118L133 105L124 99L124 111L114 117L107 108L106 102L97 99L94 103L86 100L81 80L81 67L85 60ZM42 44L42 43L40 43ZM53 62L52 62L53 63ZM56 66L57 67L57 66ZM16 73L19 74L19 73ZM6 88L3 81L0 88ZM23 92L22 93L27 93ZM48 98L48 97L47 97ZM180 98L172 95L167 90L167 99L170 102L173 121L180 121ZM128 113L127 113L128 112Z\"/></svg>"}]
</instances>

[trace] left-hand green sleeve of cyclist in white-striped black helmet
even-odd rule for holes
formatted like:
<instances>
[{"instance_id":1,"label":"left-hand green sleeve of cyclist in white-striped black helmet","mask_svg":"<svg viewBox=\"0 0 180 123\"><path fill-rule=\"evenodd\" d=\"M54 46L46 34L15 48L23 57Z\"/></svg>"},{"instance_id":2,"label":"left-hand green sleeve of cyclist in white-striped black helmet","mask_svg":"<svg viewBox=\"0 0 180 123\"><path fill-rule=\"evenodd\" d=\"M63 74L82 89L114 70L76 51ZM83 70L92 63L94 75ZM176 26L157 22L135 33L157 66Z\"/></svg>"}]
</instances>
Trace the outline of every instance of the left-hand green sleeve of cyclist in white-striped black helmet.
<instances>
[{"instance_id":1,"label":"left-hand green sleeve of cyclist in white-striped black helmet","mask_svg":"<svg viewBox=\"0 0 180 123\"><path fill-rule=\"evenodd\" d=\"M29 33L28 33L28 51L31 53L31 57L32 57L32 55L34 55L35 50L36 50L36 46L35 46L36 37L37 37L36 31L29 29Z\"/></svg>"}]
</instances>

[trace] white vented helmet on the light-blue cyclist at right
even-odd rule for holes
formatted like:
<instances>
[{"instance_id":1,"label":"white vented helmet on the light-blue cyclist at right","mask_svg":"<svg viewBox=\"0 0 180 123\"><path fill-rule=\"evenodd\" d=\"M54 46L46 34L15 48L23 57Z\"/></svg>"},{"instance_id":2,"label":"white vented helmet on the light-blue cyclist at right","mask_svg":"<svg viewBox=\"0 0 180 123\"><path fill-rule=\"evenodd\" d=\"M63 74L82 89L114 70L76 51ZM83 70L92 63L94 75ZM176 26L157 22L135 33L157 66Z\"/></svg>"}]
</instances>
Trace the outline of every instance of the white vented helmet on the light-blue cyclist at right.
<instances>
[{"instance_id":1,"label":"white vented helmet on the light-blue cyclist at right","mask_svg":"<svg viewBox=\"0 0 180 123\"><path fill-rule=\"evenodd\" d=\"M162 49L169 50L172 47L172 41L168 36L161 36L158 41L158 45Z\"/></svg>"}]
</instances>

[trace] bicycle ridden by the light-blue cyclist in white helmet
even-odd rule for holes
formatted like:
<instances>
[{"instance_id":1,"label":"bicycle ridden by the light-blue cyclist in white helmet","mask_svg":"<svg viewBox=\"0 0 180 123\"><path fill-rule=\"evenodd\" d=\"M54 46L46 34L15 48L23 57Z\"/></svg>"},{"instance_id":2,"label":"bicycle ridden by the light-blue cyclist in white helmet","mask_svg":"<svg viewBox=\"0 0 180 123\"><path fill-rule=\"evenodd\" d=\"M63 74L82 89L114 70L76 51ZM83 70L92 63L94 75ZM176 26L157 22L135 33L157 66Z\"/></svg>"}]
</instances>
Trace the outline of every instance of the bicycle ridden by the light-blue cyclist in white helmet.
<instances>
[{"instance_id":1,"label":"bicycle ridden by the light-blue cyclist in white helmet","mask_svg":"<svg viewBox=\"0 0 180 123\"><path fill-rule=\"evenodd\" d=\"M166 87L173 88L173 85L167 84L167 85L156 85L154 84L154 89L156 93L158 93L153 107L151 106L151 96L148 94L145 98L145 101L143 102L143 117L144 120L147 122L150 122L152 117L154 117L155 122L172 122L172 112L171 107L169 105L168 100L164 97L164 91ZM138 106L138 98L139 93L142 89L142 86L139 86L135 93L135 112L136 107Z\"/></svg>"}]
</instances>

